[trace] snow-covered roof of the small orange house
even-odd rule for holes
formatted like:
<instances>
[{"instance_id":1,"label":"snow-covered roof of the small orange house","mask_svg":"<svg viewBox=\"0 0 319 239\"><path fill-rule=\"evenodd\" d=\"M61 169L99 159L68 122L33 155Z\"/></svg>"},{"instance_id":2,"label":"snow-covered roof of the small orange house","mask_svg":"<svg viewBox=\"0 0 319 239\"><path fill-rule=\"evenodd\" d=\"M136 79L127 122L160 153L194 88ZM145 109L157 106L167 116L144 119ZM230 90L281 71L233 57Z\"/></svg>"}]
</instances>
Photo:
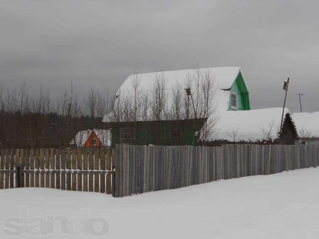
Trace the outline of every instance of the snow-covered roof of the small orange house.
<instances>
[{"instance_id":1,"label":"snow-covered roof of the small orange house","mask_svg":"<svg viewBox=\"0 0 319 239\"><path fill-rule=\"evenodd\" d=\"M79 131L75 135L75 142L74 142L74 139L72 139L70 144L76 144L79 147L84 146L85 142L88 140L92 131L94 131L96 136L98 136L103 146L111 145L111 130L107 130L107 129L93 129L93 130L88 129L88 130Z\"/></svg>"}]
</instances>

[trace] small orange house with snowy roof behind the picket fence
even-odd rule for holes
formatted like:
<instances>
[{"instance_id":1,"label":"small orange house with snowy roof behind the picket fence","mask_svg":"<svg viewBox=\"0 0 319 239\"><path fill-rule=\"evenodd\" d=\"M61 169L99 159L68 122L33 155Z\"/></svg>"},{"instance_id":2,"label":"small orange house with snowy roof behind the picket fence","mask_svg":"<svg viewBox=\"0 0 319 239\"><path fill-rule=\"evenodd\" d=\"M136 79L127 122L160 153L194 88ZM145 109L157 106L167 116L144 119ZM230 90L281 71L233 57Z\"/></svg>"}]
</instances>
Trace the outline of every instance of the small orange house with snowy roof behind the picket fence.
<instances>
[{"instance_id":1,"label":"small orange house with snowy roof behind the picket fence","mask_svg":"<svg viewBox=\"0 0 319 239\"><path fill-rule=\"evenodd\" d=\"M70 145L85 148L110 147L111 131L108 129L87 129L79 131Z\"/></svg>"}]
</instances>

